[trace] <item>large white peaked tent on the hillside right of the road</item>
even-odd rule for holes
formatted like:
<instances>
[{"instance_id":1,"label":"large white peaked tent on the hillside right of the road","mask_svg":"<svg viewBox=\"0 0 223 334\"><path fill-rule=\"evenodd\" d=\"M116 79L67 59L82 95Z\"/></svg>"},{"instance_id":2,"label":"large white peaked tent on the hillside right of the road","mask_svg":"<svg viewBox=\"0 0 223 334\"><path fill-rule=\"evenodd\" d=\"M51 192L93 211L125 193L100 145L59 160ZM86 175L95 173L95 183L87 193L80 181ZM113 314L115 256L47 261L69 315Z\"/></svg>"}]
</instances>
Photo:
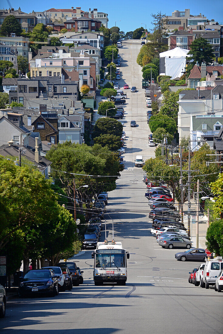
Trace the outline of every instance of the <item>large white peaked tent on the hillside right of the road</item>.
<instances>
[{"instance_id":1,"label":"large white peaked tent on the hillside right of the road","mask_svg":"<svg viewBox=\"0 0 223 334\"><path fill-rule=\"evenodd\" d=\"M175 47L175 49L161 52L159 75L170 75L171 79L180 78L186 68L186 56L190 50Z\"/></svg>"}]
</instances>

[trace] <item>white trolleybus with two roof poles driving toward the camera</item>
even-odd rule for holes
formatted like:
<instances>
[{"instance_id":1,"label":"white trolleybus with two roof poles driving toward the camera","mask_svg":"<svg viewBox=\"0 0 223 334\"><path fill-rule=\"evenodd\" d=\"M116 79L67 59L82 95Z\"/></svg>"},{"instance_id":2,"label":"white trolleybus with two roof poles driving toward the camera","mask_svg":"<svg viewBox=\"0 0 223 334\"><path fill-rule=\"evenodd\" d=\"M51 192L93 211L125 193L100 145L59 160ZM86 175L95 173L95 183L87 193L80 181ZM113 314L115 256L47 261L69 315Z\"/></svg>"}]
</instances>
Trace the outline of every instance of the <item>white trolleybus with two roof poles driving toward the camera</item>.
<instances>
[{"instance_id":1,"label":"white trolleybus with two roof poles driving toward the camera","mask_svg":"<svg viewBox=\"0 0 223 334\"><path fill-rule=\"evenodd\" d=\"M94 252L94 283L117 283L125 285L127 281L127 259L129 253L121 242L98 242Z\"/></svg>"}]
</instances>

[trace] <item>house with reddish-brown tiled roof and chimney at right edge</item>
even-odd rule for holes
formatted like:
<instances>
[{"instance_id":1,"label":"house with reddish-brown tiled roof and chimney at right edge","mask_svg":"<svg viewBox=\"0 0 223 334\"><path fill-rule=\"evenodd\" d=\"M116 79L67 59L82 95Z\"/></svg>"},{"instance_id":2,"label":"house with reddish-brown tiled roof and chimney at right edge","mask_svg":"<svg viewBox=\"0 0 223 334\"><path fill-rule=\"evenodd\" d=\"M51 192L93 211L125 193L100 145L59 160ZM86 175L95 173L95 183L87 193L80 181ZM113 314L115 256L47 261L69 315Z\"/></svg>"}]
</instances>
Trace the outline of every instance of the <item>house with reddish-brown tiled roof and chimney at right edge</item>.
<instances>
[{"instance_id":1,"label":"house with reddish-brown tiled roof and chimney at right edge","mask_svg":"<svg viewBox=\"0 0 223 334\"><path fill-rule=\"evenodd\" d=\"M188 88L197 88L198 81L206 77L206 75L214 75L216 78L220 77L223 75L223 65L207 66L205 63L202 63L201 66L198 64L194 65L188 77Z\"/></svg>"}]
</instances>

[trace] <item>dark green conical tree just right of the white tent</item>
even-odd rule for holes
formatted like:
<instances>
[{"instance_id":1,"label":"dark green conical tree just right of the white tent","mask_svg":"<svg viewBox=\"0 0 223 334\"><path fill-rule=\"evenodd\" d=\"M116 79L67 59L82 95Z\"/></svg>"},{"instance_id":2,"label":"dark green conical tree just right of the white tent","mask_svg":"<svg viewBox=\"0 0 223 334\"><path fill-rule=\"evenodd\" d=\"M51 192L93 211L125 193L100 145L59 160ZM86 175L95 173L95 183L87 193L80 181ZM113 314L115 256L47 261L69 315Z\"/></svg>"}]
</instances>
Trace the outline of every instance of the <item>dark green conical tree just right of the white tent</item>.
<instances>
[{"instance_id":1,"label":"dark green conical tree just right of the white tent","mask_svg":"<svg viewBox=\"0 0 223 334\"><path fill-rule=\"evenodd\" d=\"M205 38L198 37L191 43L188 55L190 55L190 60L193 59L193 64L198 61L201 65L202 62L206 64L213 62L214 52L212 45Z\"/></svg>"}]
</instances>

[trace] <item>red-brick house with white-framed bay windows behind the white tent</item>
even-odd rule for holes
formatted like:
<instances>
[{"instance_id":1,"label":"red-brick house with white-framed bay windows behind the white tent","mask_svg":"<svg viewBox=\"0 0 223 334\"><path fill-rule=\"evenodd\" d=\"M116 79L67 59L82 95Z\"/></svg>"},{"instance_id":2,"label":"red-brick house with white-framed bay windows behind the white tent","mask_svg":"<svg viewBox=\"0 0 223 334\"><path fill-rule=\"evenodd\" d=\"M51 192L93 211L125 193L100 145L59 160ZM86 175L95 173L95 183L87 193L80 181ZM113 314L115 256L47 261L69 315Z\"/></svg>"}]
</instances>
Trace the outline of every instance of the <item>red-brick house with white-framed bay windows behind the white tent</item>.
<instances>
[{"instance_id":1,"label":"red-brick house with white-framed bay windows behind the white tent","mask_svg":"<svg viewBox=\"0 0 223 334\"><path fill-rule=\"evenodd\" d=\"M168 37L168 47L169 50L175 47L180 47L181 49L190 50L191 43L193 41L193 34L185 30L178 30Z\"/></svg>"}]
</instances>

